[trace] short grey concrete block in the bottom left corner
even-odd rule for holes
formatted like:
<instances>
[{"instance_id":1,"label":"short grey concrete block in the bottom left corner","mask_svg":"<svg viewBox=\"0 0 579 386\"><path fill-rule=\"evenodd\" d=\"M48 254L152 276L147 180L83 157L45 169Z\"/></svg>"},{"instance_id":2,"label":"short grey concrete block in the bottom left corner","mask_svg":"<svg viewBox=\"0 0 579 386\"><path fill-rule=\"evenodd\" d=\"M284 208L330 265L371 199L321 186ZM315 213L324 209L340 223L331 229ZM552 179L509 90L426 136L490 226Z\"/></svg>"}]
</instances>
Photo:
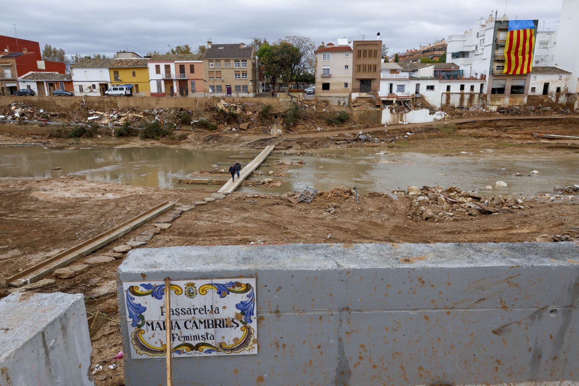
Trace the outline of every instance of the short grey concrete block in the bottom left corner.
<instances>
[{"instance_id":1,"label":"short grey concrete block in the bottom left corner","mask_svg":"<svg viewBox=\"0 0 579 386\"><path fill-rule=\"evenodd\" d=\"M2 386L94 385L81 293L25 292L0 300L0 347Z\"/></svg>"}]
</instances>

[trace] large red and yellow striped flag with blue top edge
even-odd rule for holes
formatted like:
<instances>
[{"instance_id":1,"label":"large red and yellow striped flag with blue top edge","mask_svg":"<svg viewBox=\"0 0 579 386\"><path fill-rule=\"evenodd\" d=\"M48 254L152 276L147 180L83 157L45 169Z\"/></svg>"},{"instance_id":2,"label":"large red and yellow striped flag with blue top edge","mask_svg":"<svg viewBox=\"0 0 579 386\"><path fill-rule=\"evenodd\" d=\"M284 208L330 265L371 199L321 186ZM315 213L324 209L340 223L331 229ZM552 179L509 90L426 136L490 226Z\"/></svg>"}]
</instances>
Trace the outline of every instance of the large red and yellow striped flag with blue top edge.
<instances>
[{"instance_id":1,"label":"large red and yellow striped flag with blue top edge","mask_svg":"<svg viewBox=\"0 0 579 386\"><path fill-rule=\"evenodd\" d=\"M510 20L505 43L503 73L518 75L530 73L533 68L535 24L533 20Z\"/></svg>"}]
</instances>

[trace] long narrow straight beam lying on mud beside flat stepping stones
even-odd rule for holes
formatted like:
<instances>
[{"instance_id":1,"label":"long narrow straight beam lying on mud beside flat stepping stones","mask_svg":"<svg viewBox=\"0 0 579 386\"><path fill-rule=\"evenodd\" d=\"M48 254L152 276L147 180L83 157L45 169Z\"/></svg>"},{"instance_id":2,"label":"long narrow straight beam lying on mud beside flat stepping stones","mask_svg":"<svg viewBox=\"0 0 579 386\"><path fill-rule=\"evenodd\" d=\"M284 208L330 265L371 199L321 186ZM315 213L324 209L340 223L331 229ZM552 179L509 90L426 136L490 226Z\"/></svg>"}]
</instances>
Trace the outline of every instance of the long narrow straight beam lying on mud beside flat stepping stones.
<instances>
[{"instance_id":1,"label":"long narrow straight beam lying on mud beside flat stepping stones","mask_svg":"<svg viewBox=\"0 0 579 386\"><path fill-rule=\"evenodd\" d=\"M58 255L54 255L52 258L46 259L43 262L38 263L28 269L20 271L16 275L9 277L6 280L6 284L15 287L21 287L23 285L34 283L45 277L47 274L53 273L54 270L68 266L69 264L76 262L76 260L85 257L89 253L94 252L97 249L100 249L109 244L110 242L115 241L119 237L124 236L130 231L137 229L149 220L152 220L157 216L162 215L164 212L173 209L175 205L176 203L165 201L164 203L159 204L156 207L149 209L148 211L142 212L140 215L126 222L123 222L119 226L109 229L108 231L101 233L98 236L95 236L85 242L82 242L75 247L67 249L67 251L58 253Z\"/></svg>"}]
</instances>

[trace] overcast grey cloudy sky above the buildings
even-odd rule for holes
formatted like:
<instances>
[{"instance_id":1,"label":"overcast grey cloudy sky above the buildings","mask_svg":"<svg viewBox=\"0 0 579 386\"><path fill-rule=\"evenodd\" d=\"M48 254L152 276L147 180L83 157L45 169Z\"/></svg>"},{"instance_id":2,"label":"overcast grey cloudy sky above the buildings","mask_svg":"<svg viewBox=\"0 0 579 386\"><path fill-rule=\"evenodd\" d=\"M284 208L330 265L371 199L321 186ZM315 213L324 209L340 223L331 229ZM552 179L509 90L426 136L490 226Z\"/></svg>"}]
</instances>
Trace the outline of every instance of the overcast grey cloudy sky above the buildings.
<instances>
[{"instance_id":1,"label":"overcast grey cloudy sky above the buildings","mask_svg":"<svg viewBox=\"0 0 579 386\"><path fill-rule=\"evenodd\" d=\"M499 10L510 19L538 19L539 29L558 28L562 0L30 0L2 4L0 34L61 47L67 54L165 53L188 43L248 43L309 36L316 45L336 38L376 39L390 54L417 48L470 29ZM578 0L579 1L579 0ZM23 7L25 3L25 12Z\"/></svg>"}]
</instances>

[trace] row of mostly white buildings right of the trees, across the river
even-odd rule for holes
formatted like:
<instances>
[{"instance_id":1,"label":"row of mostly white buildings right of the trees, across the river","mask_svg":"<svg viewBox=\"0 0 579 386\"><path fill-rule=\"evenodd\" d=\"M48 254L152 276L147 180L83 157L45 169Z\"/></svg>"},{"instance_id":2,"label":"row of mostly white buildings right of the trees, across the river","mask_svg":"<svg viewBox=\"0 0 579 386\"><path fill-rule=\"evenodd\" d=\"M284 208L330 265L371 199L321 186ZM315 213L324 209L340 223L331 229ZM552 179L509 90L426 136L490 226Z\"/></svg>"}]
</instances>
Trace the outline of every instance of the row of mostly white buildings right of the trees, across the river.
<instances>
[{"instance_id":1,"label":"row of mostly white buildings right of the trees, across the river","mask_svg":"<svg viewBox=\"0 0 579 386\"><path fill-rule=\"evenodd\" d=\"M509 20L507 15L477 20L464 34L400 55L400 63L382 63L379 40L338 39L318 47L316 94L335 105L464 106L496 110L527 105L579 108L579 2L563 0L559 32L538 31L538 20ZM524 71L505 71L507 35L525 23L532 51ZM446 52L443 51L446 49ZM446 63L433 63L446 54ZM516 51L514 56L516 56ZM427 62L422 60L427 58ZM516 64L515 64L516 65ZM378 70L378 72L376 72Z\"/></svg>"}]
</instances>

